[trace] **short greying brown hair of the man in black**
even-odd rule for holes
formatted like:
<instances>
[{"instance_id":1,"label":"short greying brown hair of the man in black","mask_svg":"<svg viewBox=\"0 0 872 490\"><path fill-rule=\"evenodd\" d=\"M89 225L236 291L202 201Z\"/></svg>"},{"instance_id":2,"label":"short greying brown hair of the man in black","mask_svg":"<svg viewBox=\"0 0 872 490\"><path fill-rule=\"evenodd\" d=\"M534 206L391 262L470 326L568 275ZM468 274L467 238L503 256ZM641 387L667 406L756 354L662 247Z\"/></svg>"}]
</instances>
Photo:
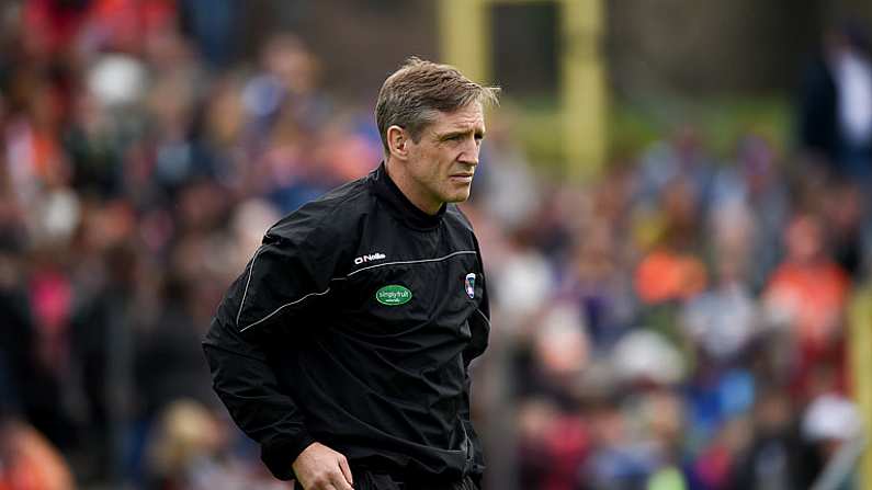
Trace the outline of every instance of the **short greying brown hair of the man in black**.
<instances>
[{"instance_id":1,"label":"short greying brown hair of the man in black","mask_svg":"<svg viewBox=\"0 0 872 490\"><path fill-rule=\"evenodd\" d=\"M385 155L389 153L387 128L399 126L418 143L437 112L453 112L472 103L499 104L499 87L483 87L451 65L410 57L387 77L375 106L375 121Z\"/></svg>"}]
</instances>

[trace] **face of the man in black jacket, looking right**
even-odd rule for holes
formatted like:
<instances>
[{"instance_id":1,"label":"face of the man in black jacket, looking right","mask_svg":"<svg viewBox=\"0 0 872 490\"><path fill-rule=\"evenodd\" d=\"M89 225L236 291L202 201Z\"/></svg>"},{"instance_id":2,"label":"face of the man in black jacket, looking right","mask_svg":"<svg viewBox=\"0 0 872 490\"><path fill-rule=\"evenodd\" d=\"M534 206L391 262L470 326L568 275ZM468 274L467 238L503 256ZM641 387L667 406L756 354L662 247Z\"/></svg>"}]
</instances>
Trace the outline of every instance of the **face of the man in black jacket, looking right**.
<instances>
[{"instance_id":1,"label":"face of the man in black jacket, looking right","mask_svg":"<svg viewBox=\"0 0 872 490\"><path fill-rule=\"evenodd\" d=\"M484 136L482 104L439 112L421 132L420 140L409 141L409 198L428 213L435 213L443 203L466 201Z\"/></svg>"}]
</instances>

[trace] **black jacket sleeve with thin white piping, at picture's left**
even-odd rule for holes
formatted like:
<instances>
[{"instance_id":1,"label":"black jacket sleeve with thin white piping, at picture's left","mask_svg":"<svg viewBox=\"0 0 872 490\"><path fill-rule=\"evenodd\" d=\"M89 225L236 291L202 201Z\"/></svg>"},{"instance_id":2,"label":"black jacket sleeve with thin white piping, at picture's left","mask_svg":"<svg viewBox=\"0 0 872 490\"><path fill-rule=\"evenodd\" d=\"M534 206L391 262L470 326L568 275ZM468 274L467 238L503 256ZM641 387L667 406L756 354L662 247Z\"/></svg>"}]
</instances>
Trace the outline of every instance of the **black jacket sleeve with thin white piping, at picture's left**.
<instances>
[{"instance_id":1,"label":"black jacket sleeve with thin white piping, at picture's left","mask_svg":"<svg viewBox=\"0 0 872 490\"><path fill-rule=\"evenodd\" d=\"M288 330L307 328L297 324L298 314L330 293L338 241L313 220L297 212L268 231L203 340L215 391L282 480L294 477L292 463L315 440L306 430L299 400L280 388L268 346L274 347L270 342L280 329L282 339L294 339Z\"/></svg>"}]
</instances>

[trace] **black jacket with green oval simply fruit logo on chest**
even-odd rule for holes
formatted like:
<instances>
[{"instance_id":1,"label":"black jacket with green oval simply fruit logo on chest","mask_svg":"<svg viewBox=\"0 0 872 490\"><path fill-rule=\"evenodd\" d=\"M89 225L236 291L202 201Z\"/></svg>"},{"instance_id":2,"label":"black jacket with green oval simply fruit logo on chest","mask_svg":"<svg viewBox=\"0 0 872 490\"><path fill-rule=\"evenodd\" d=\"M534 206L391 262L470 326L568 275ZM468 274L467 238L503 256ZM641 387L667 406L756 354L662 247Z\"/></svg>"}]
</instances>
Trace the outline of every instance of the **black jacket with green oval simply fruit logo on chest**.
<instances>
[{"instance_id":1,"label":"black jacket with green oval simply fruit logo on chest","mask_svg":"<svg viewBox=\"0 0 872 490\"><path fill-rule=\"evenodd\" d=\"M276 478L318 441L352 468L479 476L469 362L487 345L478 243L384 166L267 231L203 346L218 396Z\"/></svg>"}]
</instances>

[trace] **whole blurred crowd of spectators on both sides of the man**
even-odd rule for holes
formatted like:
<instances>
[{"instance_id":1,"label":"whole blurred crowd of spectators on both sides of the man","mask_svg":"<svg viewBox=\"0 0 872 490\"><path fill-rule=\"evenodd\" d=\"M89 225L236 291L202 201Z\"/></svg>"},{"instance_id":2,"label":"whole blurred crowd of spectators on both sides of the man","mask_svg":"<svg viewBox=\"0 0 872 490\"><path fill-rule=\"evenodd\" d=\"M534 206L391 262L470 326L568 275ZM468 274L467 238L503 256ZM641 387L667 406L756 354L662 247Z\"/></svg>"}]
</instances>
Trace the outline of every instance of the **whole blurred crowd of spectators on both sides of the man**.
<instances>
[{"instance_id":1,"label":"whole blurred crowd of spectators on both sides of the man","mask_svg":"<svg viewBox=\"0 0 872 490\"><path fill-rule=\"evenodd\" d=\"M301 39L236 61L233 4L0 5L0 490L287 488L200 339L265 229L382 149L375 93L339 103ZM490 117L488 488L797 489L862 451L872 69L828 39L788 149L688 125L574 184Z\"/></svg>"}]
</instances>

